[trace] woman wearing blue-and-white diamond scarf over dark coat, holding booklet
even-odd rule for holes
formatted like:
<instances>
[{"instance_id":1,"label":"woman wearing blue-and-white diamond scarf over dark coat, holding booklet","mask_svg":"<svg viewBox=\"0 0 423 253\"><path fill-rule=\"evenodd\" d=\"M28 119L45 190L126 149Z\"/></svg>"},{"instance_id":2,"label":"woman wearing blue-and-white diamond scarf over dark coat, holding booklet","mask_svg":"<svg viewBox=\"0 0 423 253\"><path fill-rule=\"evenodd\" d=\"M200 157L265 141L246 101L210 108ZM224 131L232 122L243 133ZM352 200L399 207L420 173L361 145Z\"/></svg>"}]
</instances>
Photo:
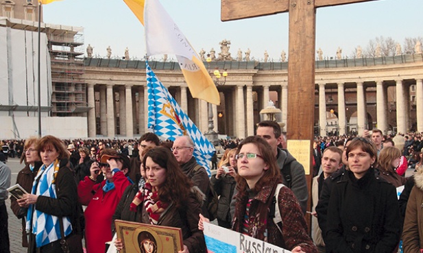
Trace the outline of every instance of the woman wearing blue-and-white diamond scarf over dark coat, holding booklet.
<instances>
[{"instance_id":1,"label":"woman wearing blue-and-white diamond scarf over dark coat, holding booklet","mask_svg":"<svg viewBox=\"0 0 423 253\"><path fill-rule=\"evenodd\" d=\"M69 168L69 152L52 135L39 139L36 150L43 165L34 178L31 194L19 200L19 204L29 204L28 252L62 252L62 243L66 242L70 252L82 253L77 185Z\"/></svg>"}]
</instances>

